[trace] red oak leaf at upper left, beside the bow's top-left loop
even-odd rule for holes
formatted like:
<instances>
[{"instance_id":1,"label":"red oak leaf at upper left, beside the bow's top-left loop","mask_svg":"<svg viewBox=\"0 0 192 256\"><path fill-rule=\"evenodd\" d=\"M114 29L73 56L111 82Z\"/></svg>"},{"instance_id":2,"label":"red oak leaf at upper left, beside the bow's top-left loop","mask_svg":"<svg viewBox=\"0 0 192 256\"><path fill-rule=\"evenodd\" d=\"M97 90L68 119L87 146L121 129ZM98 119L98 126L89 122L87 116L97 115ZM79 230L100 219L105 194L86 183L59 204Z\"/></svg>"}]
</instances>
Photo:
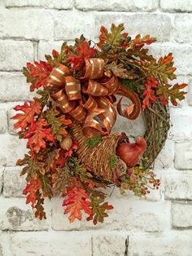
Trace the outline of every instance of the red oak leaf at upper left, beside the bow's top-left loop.
<instances>
[{"instance_id":1,"label":"red oak leaf at upper left, beside the bow's top-left loop","mask_svg":"<svg viewBox=\"0 0 192 256\"><path fill-rule=\"evenodd\" d=\"M54 53L56 54L56 52ZM52 71L52 66L46 61L40 60L39 63L37 61L34 61L34 64L27 63L27 68L29 70L28 76L37 78L36 82L30 86L30 90L33 91L40 86L46 87L46 78L49 77Z\"/></svg>"}]
</instances>

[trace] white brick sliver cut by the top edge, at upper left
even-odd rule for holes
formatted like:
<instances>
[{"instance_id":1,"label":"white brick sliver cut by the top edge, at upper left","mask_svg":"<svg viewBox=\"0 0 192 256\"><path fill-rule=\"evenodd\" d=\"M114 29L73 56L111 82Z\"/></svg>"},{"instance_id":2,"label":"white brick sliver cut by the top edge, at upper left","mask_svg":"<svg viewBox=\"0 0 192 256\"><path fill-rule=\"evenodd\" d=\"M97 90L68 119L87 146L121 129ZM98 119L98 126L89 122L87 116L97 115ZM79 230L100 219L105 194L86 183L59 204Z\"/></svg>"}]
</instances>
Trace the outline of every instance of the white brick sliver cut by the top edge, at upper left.
<instances>
[{"instance_id":1,"label":"white brick sliver cut by the top edge, at upper left","mask_svg":"<svg viewBox=\"0 0 192 256\"><path fill-rule=\"evenodd\" d=\"M7 0L6 7L43 7L55 9L71 9L72 0Z\"/></svg>"}]
</instances>

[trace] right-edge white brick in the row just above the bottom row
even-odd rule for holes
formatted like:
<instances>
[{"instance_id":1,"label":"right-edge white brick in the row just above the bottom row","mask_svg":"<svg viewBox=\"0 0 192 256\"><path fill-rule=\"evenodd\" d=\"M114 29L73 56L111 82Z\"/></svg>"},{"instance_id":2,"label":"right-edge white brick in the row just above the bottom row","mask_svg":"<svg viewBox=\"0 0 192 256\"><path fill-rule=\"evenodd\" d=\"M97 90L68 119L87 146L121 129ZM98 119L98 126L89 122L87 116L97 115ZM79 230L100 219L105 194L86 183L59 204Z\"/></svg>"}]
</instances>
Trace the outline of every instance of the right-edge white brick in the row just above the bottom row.
<instances>
[{"instance_id":1,"label":"right-edge white brick in the row just above the bottom row","mask_svg":"<svg viewBox=\"0 0 192 256\"><path fill-rule=\"evenodd\" d=\"M172 203L172 227L192 227L192 205Z\"/></svg>"}]
</instances>

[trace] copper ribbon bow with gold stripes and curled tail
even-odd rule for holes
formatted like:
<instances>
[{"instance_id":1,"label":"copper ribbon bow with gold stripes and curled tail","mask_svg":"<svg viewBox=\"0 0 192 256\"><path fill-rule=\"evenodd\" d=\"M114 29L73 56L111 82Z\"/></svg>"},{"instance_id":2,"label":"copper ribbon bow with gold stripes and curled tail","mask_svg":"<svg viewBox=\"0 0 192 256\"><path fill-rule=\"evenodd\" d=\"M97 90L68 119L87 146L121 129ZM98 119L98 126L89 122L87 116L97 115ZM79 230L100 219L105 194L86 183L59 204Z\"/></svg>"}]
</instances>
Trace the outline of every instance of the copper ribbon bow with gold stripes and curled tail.
<instances>
[{"instance_id":1,"label":"copper ribbon bow with gold stripes and curled tail","mask_svg":"<svg viewBox=\"0 0 192 256\"><path fill-rule=\"evenodd\" d=\"M109 135L116 122L114 95L125 96L133 102L131 113L122 111L120 102L117 111L129 119L135 119L141 111L136 93L121 86L116 76L104 77L104 60L85 60L85 73L80 79L72 76L70 69L57 64L47 79L53 86L61 88L52 97L63 113L68 113L76 121L83 123L83 133ZM129 108L130 109L130 108Z\"/></svg>"}]
</instances>

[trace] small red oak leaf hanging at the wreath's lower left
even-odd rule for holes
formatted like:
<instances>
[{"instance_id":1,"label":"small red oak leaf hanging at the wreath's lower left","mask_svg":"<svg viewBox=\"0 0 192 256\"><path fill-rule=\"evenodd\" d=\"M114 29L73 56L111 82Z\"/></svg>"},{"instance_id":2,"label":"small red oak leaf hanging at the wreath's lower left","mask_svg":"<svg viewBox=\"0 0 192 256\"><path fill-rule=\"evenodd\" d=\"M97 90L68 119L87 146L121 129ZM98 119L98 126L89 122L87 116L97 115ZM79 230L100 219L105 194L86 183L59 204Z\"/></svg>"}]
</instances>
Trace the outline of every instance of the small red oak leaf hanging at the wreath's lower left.
<instances>
[{"instance_id":1,"label":"small red oak leaf hanging at the wreath's lower left","mask_svg":"<svg viewBox=\"0 0 192 256\"><path fill-rule=\"evenodd\" d=\"M26 199L26 204L31 203L32 208L35 207L37 201L37 190L41 188L41 182L39 179L31 179L30 183L27 184L26 188L23 190L24 195L28 195Z\"/></svg>"}]
</instances>

